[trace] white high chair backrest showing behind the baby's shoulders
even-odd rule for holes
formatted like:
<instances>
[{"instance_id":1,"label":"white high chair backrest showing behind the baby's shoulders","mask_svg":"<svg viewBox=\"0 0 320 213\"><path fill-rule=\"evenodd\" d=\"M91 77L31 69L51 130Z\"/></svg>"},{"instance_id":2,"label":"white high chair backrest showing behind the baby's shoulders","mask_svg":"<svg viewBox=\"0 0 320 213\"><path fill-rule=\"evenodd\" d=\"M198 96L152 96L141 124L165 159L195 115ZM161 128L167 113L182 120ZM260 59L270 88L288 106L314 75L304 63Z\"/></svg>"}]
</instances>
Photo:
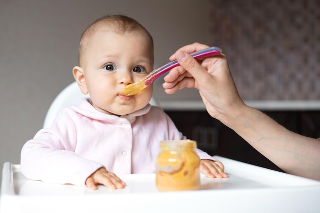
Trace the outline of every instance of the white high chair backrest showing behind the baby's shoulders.
<instances>
[{"instance_id":1,"label":"white high chair backrest showing behind the baby's shoulders","mask_svg":"<svg viewBox=\"0 0 320 213\"><path fill-rule=\"evenodd\" d=\"M45 115L43 128L50 127L62 107L78 104L79 101L85 97L89 97L89 95L82 94L76 81L65 87L50 105L49 110ZM149 103L153 106L158 106L153 97Z\"/></svg>"}]
</instances>

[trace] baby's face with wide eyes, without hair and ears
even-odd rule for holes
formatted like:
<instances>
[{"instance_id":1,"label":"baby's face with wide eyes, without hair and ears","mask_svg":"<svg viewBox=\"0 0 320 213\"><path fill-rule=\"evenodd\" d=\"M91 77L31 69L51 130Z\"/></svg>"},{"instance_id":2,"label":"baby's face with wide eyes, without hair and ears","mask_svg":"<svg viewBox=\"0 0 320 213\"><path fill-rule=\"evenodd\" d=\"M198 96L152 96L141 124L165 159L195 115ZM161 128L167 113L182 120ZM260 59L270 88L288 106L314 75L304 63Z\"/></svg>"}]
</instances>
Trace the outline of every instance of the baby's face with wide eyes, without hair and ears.
<instances>
[{"instance_id":1,"label":"baby's face with wide eyes, without hair and ears","mask_svg":"<svg viewBox=\"0 0 320 213\"><path fill-rule=\"evenodd\" d=\"M84 78L93 106L104 113L125 115L145 107L153 85L134 96L120 96L126 85L153 70L153 50L141 33L97 32L84 53Z\"/></svg>"}]
</instances>

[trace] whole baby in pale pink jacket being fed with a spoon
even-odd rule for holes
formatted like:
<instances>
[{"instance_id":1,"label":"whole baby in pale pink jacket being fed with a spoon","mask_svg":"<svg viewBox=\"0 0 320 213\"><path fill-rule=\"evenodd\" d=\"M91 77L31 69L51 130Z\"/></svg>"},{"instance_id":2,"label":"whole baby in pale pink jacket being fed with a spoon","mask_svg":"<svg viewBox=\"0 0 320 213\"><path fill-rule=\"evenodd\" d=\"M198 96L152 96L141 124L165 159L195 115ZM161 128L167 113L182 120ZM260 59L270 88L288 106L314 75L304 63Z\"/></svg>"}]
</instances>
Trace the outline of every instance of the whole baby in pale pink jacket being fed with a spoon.
<instances>
[{"instance_id":1,"label":"whole baby in pale pink jacket being fed with a spoon","mask_svg":"<svg viewBox=\"0 0 320 213\"><path fill-rule=\"evenodd\" d=\"M90 98L63 108L50 128L27 141L21 172L93 190L125 187L117 175L155 173L160 141L186 137L161 108L149 104L152 85L134 96L119 94L152 70L153 39L139 22L113 15L92 23L81 36L79 66L73 68ZM197 154L203 174L227 177L221 162L201 150Z\"/></svg>"}]
</instances>

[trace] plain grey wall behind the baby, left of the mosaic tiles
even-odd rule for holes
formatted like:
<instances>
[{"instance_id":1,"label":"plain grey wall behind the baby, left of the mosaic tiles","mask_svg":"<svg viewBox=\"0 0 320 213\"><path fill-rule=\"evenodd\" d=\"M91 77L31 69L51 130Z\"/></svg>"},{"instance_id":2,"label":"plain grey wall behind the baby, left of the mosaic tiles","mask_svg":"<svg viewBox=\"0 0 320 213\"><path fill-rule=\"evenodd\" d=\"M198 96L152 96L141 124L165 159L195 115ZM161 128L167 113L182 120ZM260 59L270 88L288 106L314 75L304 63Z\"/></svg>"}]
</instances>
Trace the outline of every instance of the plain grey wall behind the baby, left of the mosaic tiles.
<instances>
[{"instance_id":1,"label":"plain grey wall behind the baby, left of the mosaic tiles","mask_svg":"<svg viewBox=\"0 0 320 213\"><path fill-rule=\"evenodd\" d=\"M121 13L140 21L153 35L157 66L182 45L210 41L209 12L207 0L0 0L0 167L20 162L51 102L74 81L79 37L95 19ZM155 87L163 98L161 80Z\"/></svg>"}]
</instances>

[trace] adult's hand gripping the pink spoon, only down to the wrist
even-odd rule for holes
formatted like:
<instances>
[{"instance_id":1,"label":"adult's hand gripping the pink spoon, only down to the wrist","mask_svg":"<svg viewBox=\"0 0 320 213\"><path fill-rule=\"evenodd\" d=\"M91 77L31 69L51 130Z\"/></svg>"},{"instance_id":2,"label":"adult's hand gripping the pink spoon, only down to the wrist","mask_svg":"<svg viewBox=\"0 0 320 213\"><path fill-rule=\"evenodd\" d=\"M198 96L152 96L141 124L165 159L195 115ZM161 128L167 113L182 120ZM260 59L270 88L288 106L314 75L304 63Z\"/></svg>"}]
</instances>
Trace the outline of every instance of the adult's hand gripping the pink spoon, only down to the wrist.
<instances>
[{"instance_id":1,"label":"adult's hand gripping the pink spoon, only down to the wrist","mask_svg":"<svg viewBox=\"0 0 320 213\"><path fill-rule=\"evenodd\" d=\"M244 103L223 54L203 59L194 59L189 55L206 48L209 46L193 43L178 49L170 60L176 59L180 66L170 70L164 78L163 87L168 94L185 87L197 88L209 114L219 119Z\"/></svg>"}]
</instances>

